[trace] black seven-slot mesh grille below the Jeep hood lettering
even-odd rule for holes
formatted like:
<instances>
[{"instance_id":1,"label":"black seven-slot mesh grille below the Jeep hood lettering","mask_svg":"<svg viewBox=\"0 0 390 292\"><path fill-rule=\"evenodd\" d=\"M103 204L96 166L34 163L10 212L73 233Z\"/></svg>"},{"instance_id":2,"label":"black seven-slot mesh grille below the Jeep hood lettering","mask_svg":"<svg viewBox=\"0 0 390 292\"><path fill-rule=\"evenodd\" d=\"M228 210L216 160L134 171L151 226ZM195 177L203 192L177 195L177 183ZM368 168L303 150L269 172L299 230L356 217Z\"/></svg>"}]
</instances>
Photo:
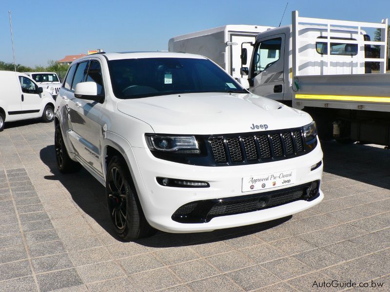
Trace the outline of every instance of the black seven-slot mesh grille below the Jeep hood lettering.
<instances>
[{"instance_id":1,"label":"black seven-slot mesh grille below the Jeep hood lettering","mask_svg":"<svg viewBox=\"0 0 390 292\"><path fill-rule=\"evenodd\" d=\"M208 139L216 164L250 164L286 159L305 152L300 128L279 132L229 134Z\"/></svg>"}]
</instances>

